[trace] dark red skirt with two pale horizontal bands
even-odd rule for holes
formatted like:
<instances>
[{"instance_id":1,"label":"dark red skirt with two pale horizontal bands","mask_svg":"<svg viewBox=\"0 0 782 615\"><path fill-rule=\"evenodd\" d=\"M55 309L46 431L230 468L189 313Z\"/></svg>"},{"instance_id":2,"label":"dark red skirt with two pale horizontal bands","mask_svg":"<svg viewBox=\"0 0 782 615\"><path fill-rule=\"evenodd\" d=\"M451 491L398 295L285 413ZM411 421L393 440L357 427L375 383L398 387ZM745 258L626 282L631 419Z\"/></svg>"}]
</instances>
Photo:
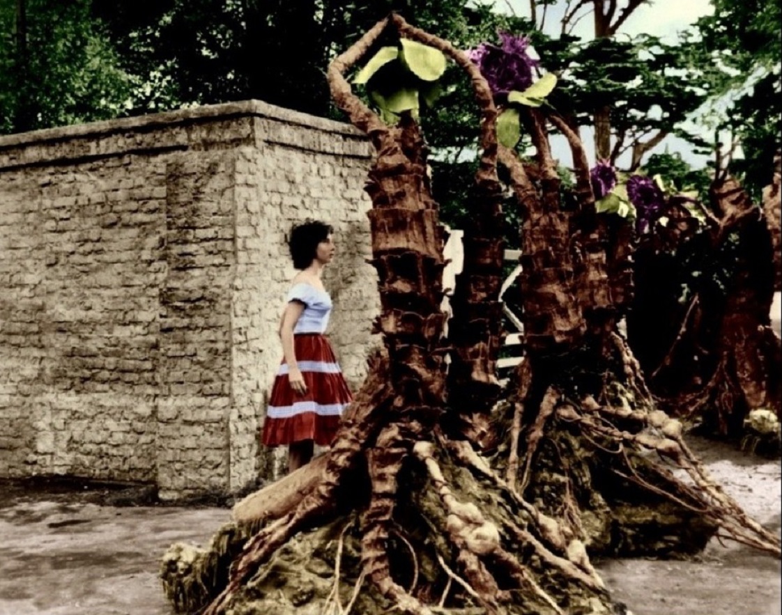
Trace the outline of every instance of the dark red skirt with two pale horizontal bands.
<instances>
[{"instance_id":1,"label":"dark red skirt with two pale horizontal bands","mask_svg":"<svg viewBox=\"0 0 782 615\"><path fill-rule=\"evenodd\" d=\"M288 445L301 440L330 445L339 427L339 417L353 396L325 336L296 334L293 348L307 392L300 395L293 391L288 381L288 365L282 359L271 388L264 445Z\"/></svg>"}]
</instances>

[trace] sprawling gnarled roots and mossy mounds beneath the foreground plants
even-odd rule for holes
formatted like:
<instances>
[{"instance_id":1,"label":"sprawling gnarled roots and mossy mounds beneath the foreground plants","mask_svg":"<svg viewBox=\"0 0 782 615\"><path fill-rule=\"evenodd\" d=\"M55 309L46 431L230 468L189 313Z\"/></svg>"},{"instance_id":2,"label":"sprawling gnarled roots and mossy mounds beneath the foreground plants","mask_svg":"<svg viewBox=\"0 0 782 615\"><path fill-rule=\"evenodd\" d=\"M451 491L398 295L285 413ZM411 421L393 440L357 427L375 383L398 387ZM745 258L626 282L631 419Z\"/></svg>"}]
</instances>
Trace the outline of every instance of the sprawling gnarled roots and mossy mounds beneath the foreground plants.
<instances>
[{"instance_id":1,"label":"sprawling gnarled roots and mossy mounds beneath the foreground plants","mask_svg":"<svg viewBox=\"0 0 782 615\"><path fill-rule=\"evenodd\" d=\"M383 373L335 448L240 502L206 549L169 549L178 612L620 613L590 558L687 556L714 535L780 556L630 381L601 402L551 387L532 424L509 395L480 454L414 425L383 442Z\"/></svg>"}]
</instances>

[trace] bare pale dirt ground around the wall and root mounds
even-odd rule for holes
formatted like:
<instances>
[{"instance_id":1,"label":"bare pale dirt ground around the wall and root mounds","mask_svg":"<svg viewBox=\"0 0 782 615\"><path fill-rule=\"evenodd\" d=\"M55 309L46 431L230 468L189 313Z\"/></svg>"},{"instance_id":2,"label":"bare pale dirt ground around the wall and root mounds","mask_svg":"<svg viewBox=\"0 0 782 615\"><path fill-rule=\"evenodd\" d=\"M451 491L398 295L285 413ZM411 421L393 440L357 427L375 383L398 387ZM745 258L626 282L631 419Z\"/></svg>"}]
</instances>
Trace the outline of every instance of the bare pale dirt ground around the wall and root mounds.
<instances>
[{"instance_id":1,"label":"bare pale dirt ground around the wall and root mounds","mask_svg":"<svg viewBox=\"0 0 782 615\"><path fill-rule=\"evenodd\" d=\"M691 438L745 510L780 530L779 460ZM203 544L224 506L128 506L148 494L95 485L0 483L0 615L169 615L157 578L172 542ZM694 561L605 560L598 569L634 615L778 615L780 562L712 542ZM274 615L274 613L270 613Z\"/></svg>"}]
</instances>

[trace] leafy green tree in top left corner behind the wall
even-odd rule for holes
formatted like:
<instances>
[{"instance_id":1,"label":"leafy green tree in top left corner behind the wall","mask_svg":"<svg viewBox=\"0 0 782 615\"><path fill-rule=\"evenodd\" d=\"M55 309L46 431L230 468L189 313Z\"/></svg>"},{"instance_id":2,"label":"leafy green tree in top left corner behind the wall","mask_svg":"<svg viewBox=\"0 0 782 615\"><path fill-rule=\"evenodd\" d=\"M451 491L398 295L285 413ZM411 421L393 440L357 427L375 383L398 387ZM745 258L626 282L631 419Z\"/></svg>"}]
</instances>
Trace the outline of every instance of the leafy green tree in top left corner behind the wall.
<instances>
[{"instance_id":1,"label":"leafy green tree in top left corner behind the wall","mask_svg":"<svg viewBox=\"0 0 782 615\"><path fill-rule=\"evenodd\" d=\"M116 117L127 76L91 2L0 4L0 132Z\"/></svg>"}]
</instances>

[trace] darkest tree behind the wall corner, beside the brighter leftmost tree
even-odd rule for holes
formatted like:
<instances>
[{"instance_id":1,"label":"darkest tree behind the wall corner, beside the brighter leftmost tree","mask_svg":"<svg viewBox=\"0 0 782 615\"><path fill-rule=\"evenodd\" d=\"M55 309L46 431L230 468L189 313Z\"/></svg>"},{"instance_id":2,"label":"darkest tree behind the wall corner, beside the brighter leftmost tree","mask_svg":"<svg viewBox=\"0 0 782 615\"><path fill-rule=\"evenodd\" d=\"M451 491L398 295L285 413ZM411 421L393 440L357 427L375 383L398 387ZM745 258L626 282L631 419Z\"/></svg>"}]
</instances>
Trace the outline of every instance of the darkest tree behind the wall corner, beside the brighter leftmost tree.
<instances>
[{"instance_id":1,"label":"darkest tree behind the wall corner, beside the brighter leftmost tree","mask_svg":"<svg viewBox=\"0 0 782 615\"><path fill-rule=\"evenodd\" d=\"M339 116L325 79L337 45L357 40L391 8L414 14L422 27L438 24L460 44L508 21L466 0L94 5L138 78L133 113L258 98L317 116Z\"/></svg>"}]
</instances>

